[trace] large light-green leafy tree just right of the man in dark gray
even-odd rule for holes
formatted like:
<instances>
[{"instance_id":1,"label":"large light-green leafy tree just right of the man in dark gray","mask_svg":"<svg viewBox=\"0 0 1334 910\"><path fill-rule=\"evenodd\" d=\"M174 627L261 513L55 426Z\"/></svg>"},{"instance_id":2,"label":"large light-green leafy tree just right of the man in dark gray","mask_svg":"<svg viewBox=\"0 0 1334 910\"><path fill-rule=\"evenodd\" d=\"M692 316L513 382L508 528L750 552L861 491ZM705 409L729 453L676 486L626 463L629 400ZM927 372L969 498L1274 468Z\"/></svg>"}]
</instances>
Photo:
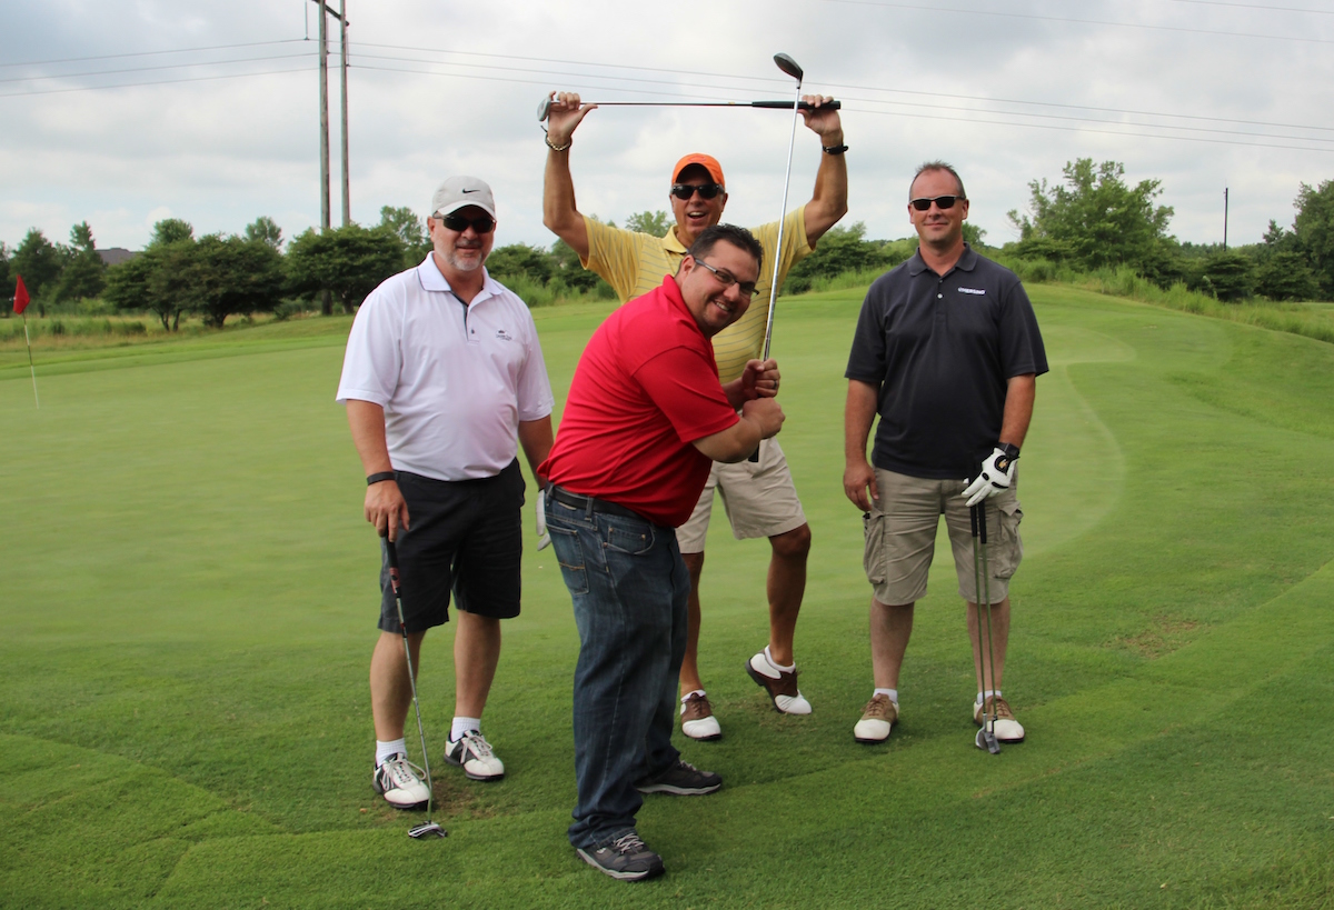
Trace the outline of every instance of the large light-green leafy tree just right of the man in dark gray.
<instances>
[{"instance_id":1,"label":"large light-green leafy tree just right of the man in dark gray","mask_svg":"<svg viewBox=\"0 0 1334 910\"><path fill-rule=\"evenodd\" d=\"M1029 184L1031 219L1010 212L1019 228L1021 250L1026 242L1054 240L1069 244L1070 259L1082 268L1125 264L1149 278L1170 271L1167 223L1173 209L1154 205L1161 181L1141 180L1129 187L1122 179L1123 164L1095 167L1091 157L1069 161L1062 173L1066 185L1049 185L1046 179Z\"/></svg>"}]
</instances>

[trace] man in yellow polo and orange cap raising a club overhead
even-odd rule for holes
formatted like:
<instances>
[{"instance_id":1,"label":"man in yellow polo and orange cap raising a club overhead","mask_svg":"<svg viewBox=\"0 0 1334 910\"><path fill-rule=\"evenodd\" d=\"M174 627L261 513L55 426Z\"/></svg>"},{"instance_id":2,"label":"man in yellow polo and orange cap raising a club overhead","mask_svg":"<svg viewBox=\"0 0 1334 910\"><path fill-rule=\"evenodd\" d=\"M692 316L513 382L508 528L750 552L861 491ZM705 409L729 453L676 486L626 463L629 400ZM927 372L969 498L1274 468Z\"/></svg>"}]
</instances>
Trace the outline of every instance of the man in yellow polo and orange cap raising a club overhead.
<instances>
[{"instance_id":1,"label":"man in yellow polo and orange cap raising a club overhead","mask_svg":"<svg viewBox=\"0 0 1334 910\"><path fill-rule=\"evenodd\" d=\"M808 255L815 243L847 212L847 164L843 152L843 124L838 111L824 108L830 100L808 95L803 100L806 125L820 139L823 153L815 175L815 192L804 205L784 216L783 250L778 250L779 223L772 221L751 234L764 248L766 268L756 283L756 303L736 323L714 336L714 356L719 379L727 383L742 374L747 360L760 358L764 326L768 320L768 294L772 271L767 263L778 259L782 287L787 271ZM572 92L552 93L547 119L547 169L543 188L543 221L579 254L579 262L600 275L616 291L620 302L640 296L675 275L686 250L699 234L718 224L727 205L722 165L708 155L687 155L671 171L668 199L675 225L666 235L626 231L582 215L575 204L570 175L570 145L575 128L595 104L582 104ZM811 548L811 528L796 496L792 475L778 440L760 446L759 462L714 464L694 515L676 536L690 568L688 644L680 667L682 731L692 739L718 739L722 727L699 676L699 576L704 567L704 538L714 507L715 490L722 494L732 534L738 539L768 538L772 556L768 564L768 644L746 663L750 674L784 714L810 714L811 705L796 686L796 659L792 638L806 591L806 558Z\"/></svg>"}]
</instances>

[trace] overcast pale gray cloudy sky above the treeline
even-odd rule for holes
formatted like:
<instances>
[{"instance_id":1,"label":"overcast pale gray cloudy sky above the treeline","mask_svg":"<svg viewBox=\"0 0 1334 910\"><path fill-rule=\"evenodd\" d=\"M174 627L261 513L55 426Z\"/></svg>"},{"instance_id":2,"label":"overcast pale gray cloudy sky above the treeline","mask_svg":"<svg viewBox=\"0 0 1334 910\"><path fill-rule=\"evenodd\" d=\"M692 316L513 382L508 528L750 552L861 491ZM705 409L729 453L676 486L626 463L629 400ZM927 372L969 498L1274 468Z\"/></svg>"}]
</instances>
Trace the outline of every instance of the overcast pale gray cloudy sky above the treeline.
<instances>
[{"instance_id":1,"label":"overcast pale gray cloudy sky above the treeline","mask_svg":"<svg viewBox=\"0 0 1334 910\"><path fill-rule=\"evenodd\" d=\"M329 0L338 8L338 0ZM870 238L910 234L924 159L962 172L987 242L1015 238L1029 181L1077 157L1162 181L1181 240L1287 227L1302 181L1334 177L1334 3L1317 0L347 0L352 219L426 215L446 176L495 188L498 243L548 246L550 89L587 100L843 100L851 211ZM667 11L670 9L670 15ZM334 219L339 221L338 32L331 20ZM196 234L268 215L319 224L316 7L311 0L0 0L0 240L29 227L140 248L173 216ZM229 47L224 47L229 45ZM203 49L213 48L213 49ZM115 71L115 72L112 72ZM149 84L157 83L157 84ZM116 85L116 87L111 87ZM575 133L582 211L624 221L667 208L671 164L723 164L727 220L774 220L791 117L782 111L604 108ZM791 204L818 141L799 127Z\"/></svg>"}]
</instances>

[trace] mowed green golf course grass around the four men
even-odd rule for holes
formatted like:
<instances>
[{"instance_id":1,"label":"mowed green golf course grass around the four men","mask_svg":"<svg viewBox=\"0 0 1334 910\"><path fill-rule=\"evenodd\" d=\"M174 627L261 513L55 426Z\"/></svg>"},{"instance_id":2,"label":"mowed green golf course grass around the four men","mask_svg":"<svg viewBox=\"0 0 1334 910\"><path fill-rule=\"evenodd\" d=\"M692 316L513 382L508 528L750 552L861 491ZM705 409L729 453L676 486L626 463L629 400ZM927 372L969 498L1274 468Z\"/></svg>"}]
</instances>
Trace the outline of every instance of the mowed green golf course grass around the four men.
<instances>
[{"instance_id":1,"label":"mowed green golf course grass around the four men","mask_svg":"<svg viewBox=\"0 0 1334 910\"><path fill-rule=\"evenodd\" d=\"M700 664L724 738L682 749L726 785L647 799L668 871L639 885L564 838L578 639L531 536L484 725L508 777L440 761L446 627L420 687L450 838L408 839L420 815L374 797L378 548L334 403L348 320L39 350L40 411L21 351L0 355L0 905L1334 906L1334 346L1033 296L1053 370L1021 462L1006 686L1029 742L972 746L944 546L903 723L852 742L871 690L840 483L860 294L784 300L815 713L772 713L742 670L768 548L718 510ZM558 400L602 315L536 312Z\"/></svg>"}]
</instances>

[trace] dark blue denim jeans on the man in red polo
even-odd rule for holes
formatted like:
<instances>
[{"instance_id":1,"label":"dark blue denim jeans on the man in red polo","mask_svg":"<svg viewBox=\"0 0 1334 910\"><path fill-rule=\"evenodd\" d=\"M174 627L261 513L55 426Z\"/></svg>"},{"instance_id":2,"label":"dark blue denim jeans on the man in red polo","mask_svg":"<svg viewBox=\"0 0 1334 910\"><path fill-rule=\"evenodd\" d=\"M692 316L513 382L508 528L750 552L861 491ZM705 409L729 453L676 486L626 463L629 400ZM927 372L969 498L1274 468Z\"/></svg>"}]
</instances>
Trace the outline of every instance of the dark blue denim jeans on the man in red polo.
<instances>
[{"instance_id":1,"label":"dark blue denim jeans on the man in red polo","mask_svg":"<svg viewBox=\"0 0 1334 910\"><path fill-rule=\"evenodd\" d=\"M635 827L635 781L674 765L676 676L686 655L690 572L676 531L571 508L547 496L547 531L574 599L575 778L570 843L595 847Z\"/></svg>"}]
</instances>

